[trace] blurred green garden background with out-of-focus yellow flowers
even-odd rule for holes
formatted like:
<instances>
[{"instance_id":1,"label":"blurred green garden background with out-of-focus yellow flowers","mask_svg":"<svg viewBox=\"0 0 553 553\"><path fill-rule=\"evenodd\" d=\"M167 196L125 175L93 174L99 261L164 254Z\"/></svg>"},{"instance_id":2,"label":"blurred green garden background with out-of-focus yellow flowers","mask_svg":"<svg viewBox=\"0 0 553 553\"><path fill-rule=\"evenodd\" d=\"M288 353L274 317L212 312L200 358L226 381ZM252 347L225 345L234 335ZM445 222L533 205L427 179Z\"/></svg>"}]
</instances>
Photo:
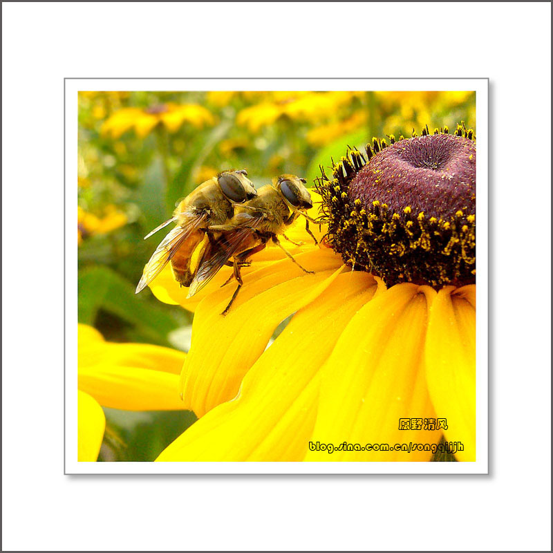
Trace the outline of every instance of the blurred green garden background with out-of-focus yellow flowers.
<instances>
[{"instance_id":1,"label":"blurred green garden background with out-of-focus yellow flowers","mask_svg":"<svg viewBox=\"0 0 553 553\"><path fill-rule=\"evenodd\" d=\"M187 351L192 315L148 288L134 294L163 233L143 237L180 198L229 168L247 169L256 187L282 173L312 185L348 145L460 121L476 128L474 92L79 92L79 322L111 341ZM153 460L195 420L106 418L100 460Z\"/></svg>"}]
</instances>

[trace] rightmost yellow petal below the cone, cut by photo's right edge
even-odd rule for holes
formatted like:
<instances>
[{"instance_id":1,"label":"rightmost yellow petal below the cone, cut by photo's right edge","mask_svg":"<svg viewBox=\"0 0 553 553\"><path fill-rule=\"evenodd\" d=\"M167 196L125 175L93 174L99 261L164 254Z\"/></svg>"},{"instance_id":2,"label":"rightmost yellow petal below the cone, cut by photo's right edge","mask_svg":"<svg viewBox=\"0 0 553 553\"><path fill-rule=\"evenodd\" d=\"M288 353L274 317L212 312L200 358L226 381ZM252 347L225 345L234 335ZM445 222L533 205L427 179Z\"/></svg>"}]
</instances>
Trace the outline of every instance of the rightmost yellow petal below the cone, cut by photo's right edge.
<instances>
[{"instance_id":1,"label":"rightmost yellow petal below the cone, cut by photo's right edge","mask_svg":"<svg viewBox=\"0 0 553 553\"><path fill-rule=\"evenodd\" d=\"M438 292L425 350L427 381L445 437L462 442L460 461L476 460L476 286Z\"/></svg>"}]
</instances>

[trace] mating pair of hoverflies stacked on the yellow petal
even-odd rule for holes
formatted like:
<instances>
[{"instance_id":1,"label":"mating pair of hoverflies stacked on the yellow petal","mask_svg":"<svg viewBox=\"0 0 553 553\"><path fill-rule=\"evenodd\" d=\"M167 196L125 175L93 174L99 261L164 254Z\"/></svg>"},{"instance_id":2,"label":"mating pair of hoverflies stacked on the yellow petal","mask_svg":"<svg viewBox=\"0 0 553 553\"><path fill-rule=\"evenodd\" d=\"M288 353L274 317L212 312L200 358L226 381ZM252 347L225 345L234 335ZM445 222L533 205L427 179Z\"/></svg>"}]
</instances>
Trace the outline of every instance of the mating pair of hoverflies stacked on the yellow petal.
<instances>
[{"instance_id":1,"label":"mating pair of hoverflies stacked on the yellow petal","mask_svg":"<svg viewBox=\"0 0 553 553\"><path fill-rule=\"evenodd\" d=\"M163 227L177 223L153 252L135 293L151 283L170 262L176 281L189 287L189 298L227 265L233 268L233 273L225 284L232 279L238 282L221 313L227 315L243 285L241 267L250 265L250 257L270 241L281 247L301 270L312 273L294 259L278 238L281 234L290 241L284 234L285 229L302 215L306 218L306 231L317 243L309 229L309 222L315 223L315 220L306 214L313 204L305 184L303 178L281 175L271 185L256 190L244 169L223 171L206 180L178 203L169 221L144 237L149 238Z\"/></svg>"}]
</instances>

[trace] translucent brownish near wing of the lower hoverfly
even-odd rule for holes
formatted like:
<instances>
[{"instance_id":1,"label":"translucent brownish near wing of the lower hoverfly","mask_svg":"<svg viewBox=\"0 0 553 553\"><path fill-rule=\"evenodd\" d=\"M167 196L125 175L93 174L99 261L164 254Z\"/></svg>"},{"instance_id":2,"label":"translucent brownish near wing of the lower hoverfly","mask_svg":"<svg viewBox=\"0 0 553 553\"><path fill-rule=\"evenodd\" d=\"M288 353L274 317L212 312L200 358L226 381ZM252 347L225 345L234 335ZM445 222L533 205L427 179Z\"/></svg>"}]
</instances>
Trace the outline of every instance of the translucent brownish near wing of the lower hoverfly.
<instances>
[{"instance_id":1,"label":"translucent brownish near wing of the lower hoverfly","mask_svg":"<svg viewBox=\"0 0 553 553\"><path fill-rule=\"evenodd\" d=\"M187 298L197 294L218 272L225 266L229 259L250 247L254 247L257 239L252 232L259 226L263 219L262 215L251 218L250 225L244 227L234 227L229 230L221 229L221 236L215 241L209 241L202 253L198 270L194 275ZM223 227L225 225L221 225ZM217 229L218 227L210 227Z\"/></svg>"}]
</instances>

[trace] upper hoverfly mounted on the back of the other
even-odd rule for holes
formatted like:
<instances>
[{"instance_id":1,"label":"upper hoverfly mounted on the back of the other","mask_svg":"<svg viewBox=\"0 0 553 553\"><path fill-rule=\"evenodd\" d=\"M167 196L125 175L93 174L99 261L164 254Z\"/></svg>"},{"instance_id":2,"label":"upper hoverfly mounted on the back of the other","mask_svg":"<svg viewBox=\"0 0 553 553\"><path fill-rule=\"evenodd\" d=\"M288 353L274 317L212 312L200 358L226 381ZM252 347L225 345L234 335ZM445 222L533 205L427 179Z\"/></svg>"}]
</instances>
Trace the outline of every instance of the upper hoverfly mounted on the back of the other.
<instances>
[{"instance_id":1,"label":"upper hoverfly mounted on the back of the other","mask_svg":"<svg viewBox=\"0 0 553 553\"><path fill-rule=\"evenodd\" d=\"M178 203L173 217L153 229L144 240L158 230L177 223L153 252L144 267L135 294L155 279L171 261L174 277L181 286L190 285L194 278L191 259L203 241L210 225L221 225L232 218L234 205L255 198L257 191L247 178L247 171L223 171L206 180Z\"/></svg>"}]
</instances>

